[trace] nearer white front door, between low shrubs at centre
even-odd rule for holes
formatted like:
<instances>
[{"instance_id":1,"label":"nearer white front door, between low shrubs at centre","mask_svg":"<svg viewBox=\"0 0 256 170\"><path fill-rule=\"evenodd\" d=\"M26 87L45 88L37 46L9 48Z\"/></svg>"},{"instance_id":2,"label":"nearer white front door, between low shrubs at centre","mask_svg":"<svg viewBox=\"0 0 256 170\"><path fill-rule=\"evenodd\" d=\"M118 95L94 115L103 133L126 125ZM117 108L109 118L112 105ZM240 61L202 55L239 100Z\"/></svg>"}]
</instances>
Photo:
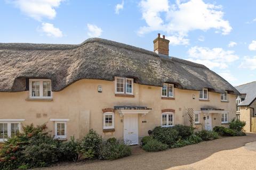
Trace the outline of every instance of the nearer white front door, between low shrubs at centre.
<instances>
[{"instance_id":1,"label":"nearer white front door, between low shrubs at centre","mask_svg":"<svg viewBox=\"0 0 256 170\"><path fill-rule=\"evenodd\" d=\"M124 143L126 145L138 145L138 114L124 115Z\"/></svg>"}]
</instances>

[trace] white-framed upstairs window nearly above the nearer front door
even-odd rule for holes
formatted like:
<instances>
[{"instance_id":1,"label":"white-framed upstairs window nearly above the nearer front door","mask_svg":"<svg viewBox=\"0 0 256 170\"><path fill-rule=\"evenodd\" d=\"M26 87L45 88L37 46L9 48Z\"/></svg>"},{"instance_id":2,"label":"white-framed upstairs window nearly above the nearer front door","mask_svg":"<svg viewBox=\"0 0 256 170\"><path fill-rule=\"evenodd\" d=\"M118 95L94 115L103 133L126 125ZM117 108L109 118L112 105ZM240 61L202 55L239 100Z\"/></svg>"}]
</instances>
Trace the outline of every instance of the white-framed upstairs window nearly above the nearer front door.
<instances>
[{"instance_id":1,"label":"white-framed upstairs window nearly above the nearer front door","mask_svg":"<svg viewBox=\"0 0 256 170\"><path fill-rule=\"evenodd\" d=\"M115 93L133 95L133 79L115 77Z\"/></svg>"}]
</instances>

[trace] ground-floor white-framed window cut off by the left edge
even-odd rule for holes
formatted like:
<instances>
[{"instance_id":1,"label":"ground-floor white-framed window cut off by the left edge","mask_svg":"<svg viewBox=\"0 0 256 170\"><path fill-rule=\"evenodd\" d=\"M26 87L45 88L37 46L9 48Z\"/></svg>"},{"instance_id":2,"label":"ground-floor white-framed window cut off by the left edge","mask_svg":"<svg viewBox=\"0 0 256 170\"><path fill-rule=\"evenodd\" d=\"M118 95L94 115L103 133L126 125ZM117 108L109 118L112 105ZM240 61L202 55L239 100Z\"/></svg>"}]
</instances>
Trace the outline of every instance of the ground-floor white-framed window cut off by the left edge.
<instances>
[{"instance_id":1,"label":"ground-floor white-framed window cut off by the left edge","mask_svg":"<svg viewBox=\"0 0 256 170\"><path fill-rule=\"evenodd\" d=\"M0 122L0 142L18 135L21 130L20 126L20 122Z\"/></svg>"}]
</instances>

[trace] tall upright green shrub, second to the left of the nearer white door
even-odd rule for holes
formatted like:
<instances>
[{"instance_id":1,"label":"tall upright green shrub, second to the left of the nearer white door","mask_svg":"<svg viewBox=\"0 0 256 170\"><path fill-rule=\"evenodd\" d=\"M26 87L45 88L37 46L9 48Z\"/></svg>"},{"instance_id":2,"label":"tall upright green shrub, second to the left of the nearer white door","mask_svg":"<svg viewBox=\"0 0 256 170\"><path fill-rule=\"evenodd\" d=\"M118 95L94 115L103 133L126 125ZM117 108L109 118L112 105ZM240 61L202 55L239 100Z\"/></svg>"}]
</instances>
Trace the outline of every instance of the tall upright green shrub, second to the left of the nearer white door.
<instances>
[{"instance_id":1,"label":"tall upright green shrub, second to the left of the nearer white door","mask_svg":"<svg viewBox=\"0 0 256 170\"><path fill-rule=\"evenodd\" d=\"M98 158L101 143L102 137L96 131L90 129L81 142L83 156L85 158Z\"/></svg>"}]
</instances>

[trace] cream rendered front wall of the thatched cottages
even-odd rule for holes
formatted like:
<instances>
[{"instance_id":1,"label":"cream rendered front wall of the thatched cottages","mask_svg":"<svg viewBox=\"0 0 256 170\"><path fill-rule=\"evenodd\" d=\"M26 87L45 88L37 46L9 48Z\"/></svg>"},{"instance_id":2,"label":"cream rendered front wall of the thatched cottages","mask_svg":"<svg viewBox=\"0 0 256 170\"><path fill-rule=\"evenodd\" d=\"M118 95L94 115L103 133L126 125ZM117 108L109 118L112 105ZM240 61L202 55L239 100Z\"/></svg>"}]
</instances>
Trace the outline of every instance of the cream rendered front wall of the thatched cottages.
<instances>
[{"instance_id":1,"label":"cream rendered front wall of the thatched cottages","mask_svg":"<svg viewBox=\"0 0 256 170\"><path fill-rule=\"evenodd\" d=\"M98 86L102 92L98 92ZM0 92L0 118L25 118L23 124L46 123L54 134L54 122L50 118L69 118L67 122L68 138L82 138L90 129L96 130L103 138L123 139L123 117L115 112L115 132L103 133L102 109L114 106L147 106L152 108L147 115L139 115L139 137L147 135L148 130L161 125L161 110L175 109L174 124L185 123L186 108L199 111L201 107L217 107L229 111L228 119L235 117L235 95L228 95L228 103L220 101L220 94L209 92L210 101L199 101L199 92L194 90L174 89L175 100L161 99L161 87L134 83L134 98L116 97L114 81L79 80L59 92L53 92L53 101L27 101L29 92ZM195 99L193 99L195 95ZM220 114L215 115L213 125L220 125ZM90 121L89 121L90 119ZM146 120L147 123L142 123ZM200 115L200 123L204 123Z\"/></svg>"}]
</instances>

